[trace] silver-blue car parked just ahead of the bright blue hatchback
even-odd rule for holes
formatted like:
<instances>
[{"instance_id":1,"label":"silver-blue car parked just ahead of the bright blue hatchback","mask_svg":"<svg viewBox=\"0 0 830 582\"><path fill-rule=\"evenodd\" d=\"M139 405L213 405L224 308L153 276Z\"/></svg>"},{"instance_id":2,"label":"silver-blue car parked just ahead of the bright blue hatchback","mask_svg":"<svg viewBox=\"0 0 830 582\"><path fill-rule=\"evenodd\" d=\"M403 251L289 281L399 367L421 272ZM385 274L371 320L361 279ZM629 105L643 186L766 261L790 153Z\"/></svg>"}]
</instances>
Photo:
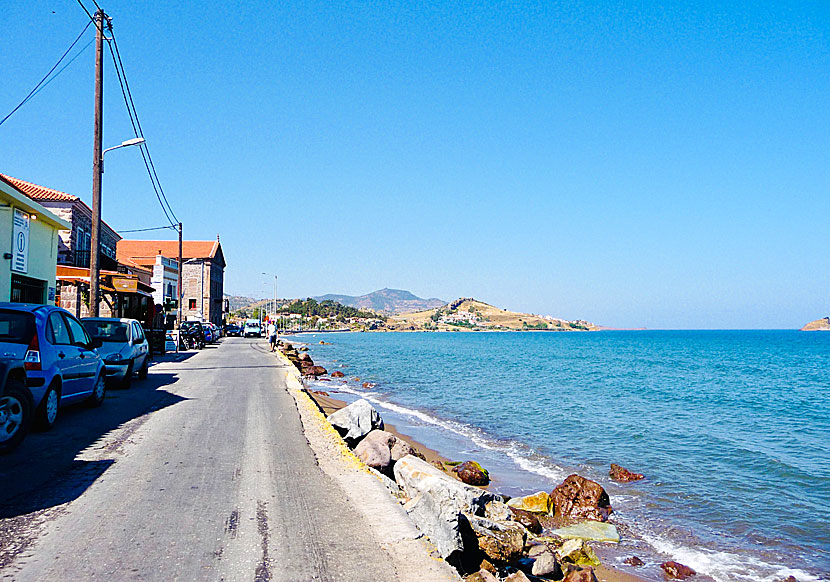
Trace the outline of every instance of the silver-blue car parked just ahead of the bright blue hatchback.
<instances>
[{"instance_id":1,"label":"silver-blue car parked just ahead of the bright blue hatchback","mask_svg":"<svg viewBox=\"0 0 830 582\"><path fill-rule=\"evenodd\" d=\"M109 382L129 388L136 372L141 380L147 377L150 344L138 321L117 317L84 317L81 323L90 336L101 340L98 353L104 358Z\"/></svg>"}]
</instances>

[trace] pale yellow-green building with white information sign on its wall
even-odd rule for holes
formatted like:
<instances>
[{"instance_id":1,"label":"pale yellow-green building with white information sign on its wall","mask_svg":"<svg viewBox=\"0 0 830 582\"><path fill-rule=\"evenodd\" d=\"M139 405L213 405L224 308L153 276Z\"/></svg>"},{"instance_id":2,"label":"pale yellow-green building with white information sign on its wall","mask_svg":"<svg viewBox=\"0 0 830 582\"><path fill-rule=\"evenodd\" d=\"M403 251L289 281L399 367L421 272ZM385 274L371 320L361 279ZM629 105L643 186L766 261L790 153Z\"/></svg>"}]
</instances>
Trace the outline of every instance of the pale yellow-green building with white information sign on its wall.
<instances>
[{"instance_id":1,"label":"pale yellow-green building with white information sign on its wall","mask_svg":"<svg viewBox=\"0 0 830 582\"><path fill-rule=\"evenodd\" d=\"M0 301L55 301L59 232L69 226L0 174Z\"/></svg>"}]
</instances>

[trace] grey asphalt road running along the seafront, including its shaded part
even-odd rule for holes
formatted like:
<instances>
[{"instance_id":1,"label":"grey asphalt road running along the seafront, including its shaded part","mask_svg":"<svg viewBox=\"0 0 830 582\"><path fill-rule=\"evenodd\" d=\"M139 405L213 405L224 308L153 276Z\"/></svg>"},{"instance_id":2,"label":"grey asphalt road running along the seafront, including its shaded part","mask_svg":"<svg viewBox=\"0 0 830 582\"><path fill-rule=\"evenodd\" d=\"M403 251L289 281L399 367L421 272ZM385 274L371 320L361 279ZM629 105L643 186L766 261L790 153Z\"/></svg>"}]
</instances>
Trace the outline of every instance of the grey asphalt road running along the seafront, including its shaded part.
<instances>
[{"instance_id":1,"label":"grey asphalt road running along the seafront, including its shaded part","mask_svg":"<svg viewBox=\"0 0 830 582\"><path fill-rule=\"evenodd\" d=\"M395 580L263 340L226 338L0 457L0 579Z\"/></svg>"}]
</instances>

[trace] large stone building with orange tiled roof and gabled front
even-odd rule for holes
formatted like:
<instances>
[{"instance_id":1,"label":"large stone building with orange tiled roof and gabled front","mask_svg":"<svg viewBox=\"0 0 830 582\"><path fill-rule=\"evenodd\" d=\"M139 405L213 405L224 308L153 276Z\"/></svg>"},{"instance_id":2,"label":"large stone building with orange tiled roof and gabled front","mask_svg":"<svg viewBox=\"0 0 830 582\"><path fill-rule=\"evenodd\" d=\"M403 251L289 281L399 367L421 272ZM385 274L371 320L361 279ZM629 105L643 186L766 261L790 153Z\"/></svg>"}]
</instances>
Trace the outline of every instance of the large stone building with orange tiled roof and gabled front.
<instances>
[{"instance_id":1,"label":"large stone building with orange tiled roof and gabled front","mask_svg":"<svg viewBox=\"0 0 830 582\"><path fill-rule=\"evenodd\" d=\"M167 269L164 258L178 257L178 254L178 241L121 240L116 256L119 263L154 269L159 264L157 257L161 256L160 266ZM225 256L219 238L215 241L182 241L182 317L222 325L224 290ZM166 283L162 292L167 292Z\"/></svg>"}]
</instances>

